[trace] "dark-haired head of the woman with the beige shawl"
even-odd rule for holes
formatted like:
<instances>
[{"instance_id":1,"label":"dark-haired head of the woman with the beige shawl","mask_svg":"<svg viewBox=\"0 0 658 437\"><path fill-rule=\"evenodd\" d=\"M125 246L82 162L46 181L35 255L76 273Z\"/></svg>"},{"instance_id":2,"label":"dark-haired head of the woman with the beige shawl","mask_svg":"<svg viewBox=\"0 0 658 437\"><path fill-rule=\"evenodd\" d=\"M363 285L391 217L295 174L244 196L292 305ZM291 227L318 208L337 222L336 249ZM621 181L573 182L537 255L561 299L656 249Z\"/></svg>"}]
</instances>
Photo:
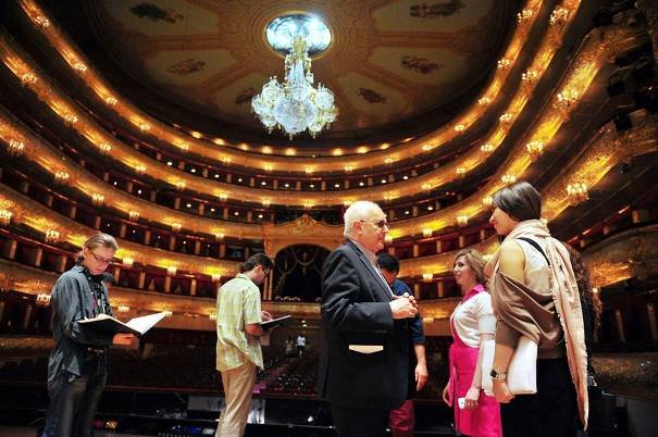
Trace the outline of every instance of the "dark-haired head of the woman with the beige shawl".
<instances>
[{"instance_id":1,"label":"dark-haired head of the woman with the beige shawl","mask_svg":"<svg viewBox=\"0 0 658 437\"><path fill-rule=\"evenodd\" d=\"M489 223L496 234L509 234L519 222L542 216L542 195L526 182L502 187L493 195L494 212Z\"/></svg>"}]
</instances>

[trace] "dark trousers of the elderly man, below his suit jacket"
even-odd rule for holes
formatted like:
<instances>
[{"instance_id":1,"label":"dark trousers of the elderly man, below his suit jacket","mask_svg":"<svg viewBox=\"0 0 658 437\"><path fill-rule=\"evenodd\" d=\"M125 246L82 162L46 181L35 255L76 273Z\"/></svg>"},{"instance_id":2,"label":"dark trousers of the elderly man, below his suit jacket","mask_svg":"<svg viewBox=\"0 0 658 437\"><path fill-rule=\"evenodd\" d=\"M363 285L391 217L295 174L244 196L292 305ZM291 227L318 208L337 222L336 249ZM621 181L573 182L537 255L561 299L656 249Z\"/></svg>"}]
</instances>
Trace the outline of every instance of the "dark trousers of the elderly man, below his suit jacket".
<instances>
[{"instance_id":1,"label":"dark trousers of the elderly man, below his suit jacket","mask_svg":"<svg viewBox=\"0 0 658 437\"><path fill-rule=\"evenodd\" d=\"M365 410L332 403L338 437L382 437L388 425L388 410Z\"/></svg>"}]
</instances>

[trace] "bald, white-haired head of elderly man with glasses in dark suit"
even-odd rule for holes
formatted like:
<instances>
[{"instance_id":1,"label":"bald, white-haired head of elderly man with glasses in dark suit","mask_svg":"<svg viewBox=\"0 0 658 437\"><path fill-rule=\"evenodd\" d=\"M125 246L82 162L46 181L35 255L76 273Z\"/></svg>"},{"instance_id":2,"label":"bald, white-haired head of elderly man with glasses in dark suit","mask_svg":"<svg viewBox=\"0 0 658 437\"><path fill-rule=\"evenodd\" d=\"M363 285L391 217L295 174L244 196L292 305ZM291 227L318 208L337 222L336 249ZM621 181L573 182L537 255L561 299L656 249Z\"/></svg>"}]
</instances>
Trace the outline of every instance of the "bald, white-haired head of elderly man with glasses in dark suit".
<instances>
[{"instance_id":1,"label":"bald, white-haired head of elderly man with glasses in dark suit","mask_svg":"<svg viewBox=\"0 0 658 437\"><path fill-rule=\"evenodd\" d=\"M360 200L353 202L343 215L344 235L365 249L376 253L384 249L384 238L388 234L386 214L376 203Z\"/></svg>"}]
</instances>

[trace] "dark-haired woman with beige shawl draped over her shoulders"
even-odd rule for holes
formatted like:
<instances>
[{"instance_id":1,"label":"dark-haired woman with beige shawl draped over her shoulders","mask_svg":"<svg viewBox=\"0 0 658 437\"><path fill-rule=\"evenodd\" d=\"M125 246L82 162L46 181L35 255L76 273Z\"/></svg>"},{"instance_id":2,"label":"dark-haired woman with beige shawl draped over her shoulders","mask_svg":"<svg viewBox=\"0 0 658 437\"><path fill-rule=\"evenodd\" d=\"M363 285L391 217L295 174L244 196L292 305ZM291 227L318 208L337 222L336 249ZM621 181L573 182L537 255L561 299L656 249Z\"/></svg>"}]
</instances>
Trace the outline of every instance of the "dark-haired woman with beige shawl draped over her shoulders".
<instances>
[{"instance_id":1,"label":"dark-haired woman with beige shawl draped over her shoulders","mask_svg":"<svg viewBox=\"0 0 658 437\"><path fill-rule=\"evenodd\" d=\"M502 434L574 436L587 423L583 315L569 252L539 220L542 197L522 182L493 196L489 222L504 236L487 265L497 319L493 391ZM536 394L514 396L507 370L521 337L537 347ZM578 414L576 414L578 412Z\"/></svg>"}]
</instances>

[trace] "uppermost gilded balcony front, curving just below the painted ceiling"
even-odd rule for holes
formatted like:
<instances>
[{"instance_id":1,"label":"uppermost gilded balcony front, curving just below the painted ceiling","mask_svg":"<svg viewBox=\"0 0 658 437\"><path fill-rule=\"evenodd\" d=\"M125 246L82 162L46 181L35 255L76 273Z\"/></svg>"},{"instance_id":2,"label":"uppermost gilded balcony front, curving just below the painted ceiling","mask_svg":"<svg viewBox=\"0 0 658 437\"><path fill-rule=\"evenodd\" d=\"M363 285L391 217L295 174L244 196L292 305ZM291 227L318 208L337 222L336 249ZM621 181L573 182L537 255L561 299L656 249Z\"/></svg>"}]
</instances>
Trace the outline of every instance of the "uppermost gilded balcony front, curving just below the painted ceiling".
<instances>
[{"instance_id":1,"label":"uppermost gilded balcony front, curving just below the painted ceiling","mask_svg":"<svg viewBox=\"0 0 658 437\"><path fill-rule=\"evenodd\" d=\"M578 13L580 3L580 0L568 0L564 1L561 7L558 7L562 10L567 10L568 13L562 21L556 25L553 25L548 29L547 36L545 37L546 40L550 40L553 45L556 45L556 41L561 40L563 32L566 28L568 28L567 24L569 24L572 21L572 17ZM190 150L199 155L209 158L219 163L233 163L245 167L262 170L262 160L264 157L254 157L253 153L258 153L260 151L268 155L268 163L272 165L271 171L289 172L291 160L294 160L296 171L306 173L321 171L332 172L336 168L344 168L346 166L350 166L356 170L389 165L392 160L397 161L399 159L414 157L420 153L427 152L427 150L423 149L424 147L429 146L430 150L433 150L448 140L463 134L476 120L484 115L484 112L487 110L487 107L491 104L491 102L498 98L500 88L507 79L512 65L517 62L517 57L527 40L530 28L534 25L537 12L541 10L542 5L542 0L530 0L527 2L523 11L523 20L519 20L520 24L517 26L516 33L501 60L502 63L499 63L500 67L497 70L492 83L481 95L481 98L476 99L477 103L474 102L471 107L464 110L464 112L455 120L454 124L440 127L437 132L429 137L419 138L398 146L395 158L389 155L389 153L385 150L377 150L387 149L389 145L370 145L362 146L357 149L357 153L361 153L361 150L369 152L370 150L374 150L373 152L368 153L368 157L363 158L353 155L347 159L339 157L291 159L286 157L271 155L270 153L272 148L263 147L259 150L257 147L249 147L249 145L244 146L247 146L252 153L243 153L235 149L223 149L220 151L213 148L207 141L198 140L198 136L195 138L195 136L190 137L183 135L181 132L177 132L174 128L150 117L127 101L124 101L124 99L117 98L119 95L114 92L114 90L110 89L110 87L104 83L100 75L94 71L94 68L89 67L89 62L82 55L82 53L79 53L77 49L74 48L74 43L69 40L63 32L59 29L59 26L54 25L48 20L44 11L35 1L21 0L21 7L25 11L26 15L35 23L37 29L46 36L46 38L51 42L62 58L64 58L64 60L69 63L73 71L76 72L76 74L85 75L84 83L96 92L102 102L110 104L120 116L123 116L131 124L133 124L133 126L137 127L141 132L148 132L150 135L154 135L161 140L170 142L179 150ZM556 8L556 10L558 8ZM48 25L44 25L45 22L47 22ZM213 142L215 142L218 146L225 145L225 141L221 138L214 139Z\"/></svg>"}]
</instances>

